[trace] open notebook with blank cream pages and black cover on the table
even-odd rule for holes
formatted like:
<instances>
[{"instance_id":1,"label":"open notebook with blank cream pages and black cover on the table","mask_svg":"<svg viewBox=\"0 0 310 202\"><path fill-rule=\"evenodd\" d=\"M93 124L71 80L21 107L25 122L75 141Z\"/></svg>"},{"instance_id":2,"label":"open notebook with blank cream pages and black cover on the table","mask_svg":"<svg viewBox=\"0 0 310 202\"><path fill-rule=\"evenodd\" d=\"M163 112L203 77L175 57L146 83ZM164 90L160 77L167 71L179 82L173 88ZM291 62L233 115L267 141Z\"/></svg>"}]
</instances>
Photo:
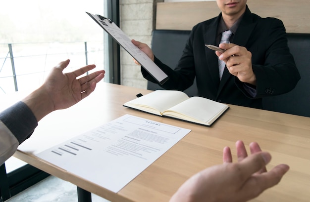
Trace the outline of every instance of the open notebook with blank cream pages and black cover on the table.
<instances>
[{"instance_id":1,"label":"open notebook with blank cream pages and black cover on the table","mask_svg":"<svg viewBox=\"0 0 310 202\"><path fill-rule=\"evenodd\" d=\"M162 117L210 126L229 106L203 97L188 97L178 90L155 90L123 104Z\"/></svg>"}]
</instances>

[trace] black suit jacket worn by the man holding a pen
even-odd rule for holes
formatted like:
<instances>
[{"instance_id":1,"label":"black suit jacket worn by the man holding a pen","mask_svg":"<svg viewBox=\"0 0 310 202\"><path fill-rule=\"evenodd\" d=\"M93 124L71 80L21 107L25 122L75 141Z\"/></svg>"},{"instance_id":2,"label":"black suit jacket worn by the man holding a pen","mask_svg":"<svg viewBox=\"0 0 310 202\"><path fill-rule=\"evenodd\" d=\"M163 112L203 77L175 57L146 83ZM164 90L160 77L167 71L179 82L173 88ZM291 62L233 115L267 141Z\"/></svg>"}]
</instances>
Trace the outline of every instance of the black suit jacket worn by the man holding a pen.
<instances>
[{"instance_id":1,"label":"black suit jacket worn by the man holding a pen","mask_svg":"<svg viewBox=\"0 0 310 202\"><path fill-rule=\"evenodd\" d=\"M169 76L162 87L185 90L196 77L198 96L247 107L262 108L261 98L292 90L300 80L295 61L287 46L286 32L281 20L261 18L248 6L232 43L246 47L252 53L253 71L257 78L257 95L252 97L244 83L225 68L219 80L217 56L205 44L216 44L219 16L197 24L183 50L177 67L172 70L155 57L155 63ZM143 68L143 76L156 80Z\"/></svg>"}]
</instances>

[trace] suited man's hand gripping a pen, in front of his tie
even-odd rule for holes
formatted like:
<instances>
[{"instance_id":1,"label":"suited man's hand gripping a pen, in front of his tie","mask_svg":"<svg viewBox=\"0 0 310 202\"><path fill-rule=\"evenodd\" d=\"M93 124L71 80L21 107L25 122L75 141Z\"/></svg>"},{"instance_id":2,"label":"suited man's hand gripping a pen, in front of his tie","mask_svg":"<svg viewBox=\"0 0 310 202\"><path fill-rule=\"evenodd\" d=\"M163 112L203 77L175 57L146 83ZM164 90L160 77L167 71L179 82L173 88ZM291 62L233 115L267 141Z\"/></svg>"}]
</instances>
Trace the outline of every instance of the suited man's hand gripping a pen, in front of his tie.
<instances>
[{"instance_id":1,"label":"suited man's hand gripping a pen, in front of his tie","mask_svg":"<svg viewBox=\"0 0 310 202\"><path fill-rule=\"evenodd\" d=\"M242 82L256 85L256 76L252 69L252 53L234 43L221 43L219 47L226 51L222 53L215 51L215 54L225 62L229 73ZM231 57L232 55L234 57Z\"/></svg>"}]
</instances>

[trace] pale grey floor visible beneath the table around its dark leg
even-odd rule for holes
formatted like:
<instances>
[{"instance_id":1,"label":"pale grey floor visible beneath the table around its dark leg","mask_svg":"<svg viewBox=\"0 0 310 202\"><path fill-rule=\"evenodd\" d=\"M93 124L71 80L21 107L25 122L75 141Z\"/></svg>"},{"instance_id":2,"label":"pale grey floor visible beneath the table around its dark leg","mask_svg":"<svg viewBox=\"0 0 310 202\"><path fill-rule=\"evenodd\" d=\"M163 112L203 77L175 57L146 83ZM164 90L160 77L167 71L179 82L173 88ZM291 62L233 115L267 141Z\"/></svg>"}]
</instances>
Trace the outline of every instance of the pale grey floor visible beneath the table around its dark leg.
<instances>
[{"instance_id":1,"label":"pale grey floor visible beneath the table around its dark leg","mask_svg":"<svg viewBox=\"0 0 310 202\"><path fill-rule=\"evenodd\" d=\"M77 188L70 182L50 176L6 202L77 202ZM92 194L92 202L108 202Z\"/></svg>"}]
</instances>

